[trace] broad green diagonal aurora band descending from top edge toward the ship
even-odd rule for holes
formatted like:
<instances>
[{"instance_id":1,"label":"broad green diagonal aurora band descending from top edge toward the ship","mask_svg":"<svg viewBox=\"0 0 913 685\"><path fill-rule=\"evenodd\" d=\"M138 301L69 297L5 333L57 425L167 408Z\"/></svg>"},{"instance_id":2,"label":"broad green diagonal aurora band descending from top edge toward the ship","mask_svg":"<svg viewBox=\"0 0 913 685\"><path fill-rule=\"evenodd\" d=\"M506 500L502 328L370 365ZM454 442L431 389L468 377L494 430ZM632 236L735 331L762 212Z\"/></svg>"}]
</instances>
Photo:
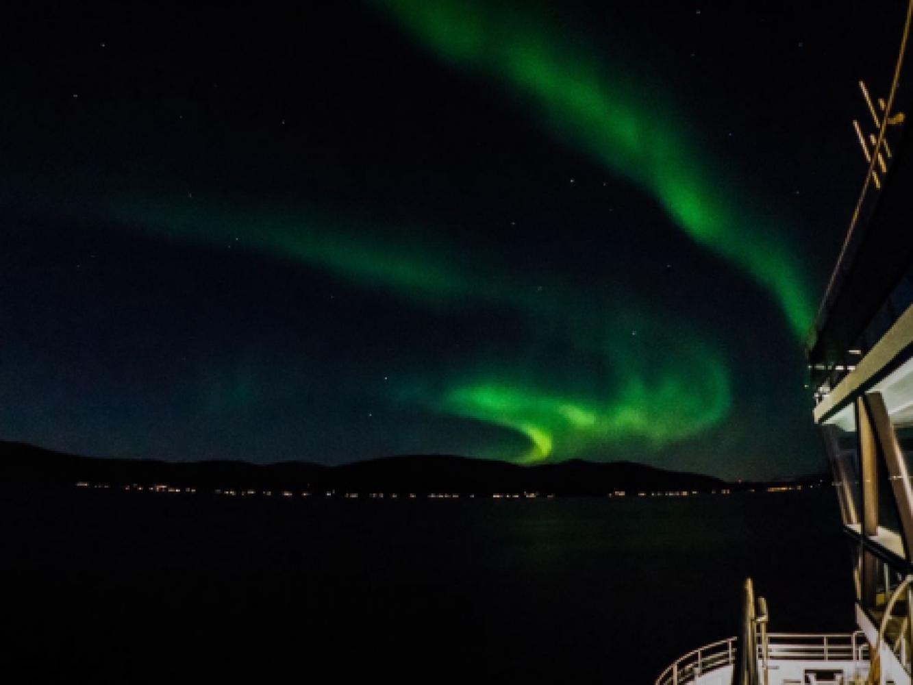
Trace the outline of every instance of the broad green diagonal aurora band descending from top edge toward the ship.
<instances>
[{"instance_id":1,"label":"broad green diagonal aurora band descending from top edge toward the ship","mask_svg":"<svg viewBox=\"0 0 913 685\"><path fill-rule=\"evenodd\" d=\"M485 74L531 105L572 142L652 195L688 236L744 269L779 302L803 336L813 299L803 267L772 220L719 186L666 98L603 65L529 5L482 0L376 0L425 47L458 68ZM621 72L621 70L617 70Z\"/></svg>"}]
</instances>

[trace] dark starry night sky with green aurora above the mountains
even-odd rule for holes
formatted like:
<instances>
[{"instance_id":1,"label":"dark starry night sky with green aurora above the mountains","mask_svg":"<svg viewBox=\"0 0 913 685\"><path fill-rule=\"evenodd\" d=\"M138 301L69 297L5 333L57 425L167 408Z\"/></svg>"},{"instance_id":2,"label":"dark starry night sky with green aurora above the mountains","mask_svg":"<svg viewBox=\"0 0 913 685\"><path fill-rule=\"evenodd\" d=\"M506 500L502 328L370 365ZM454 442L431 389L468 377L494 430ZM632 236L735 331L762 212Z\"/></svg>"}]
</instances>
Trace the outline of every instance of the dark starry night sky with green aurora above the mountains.
<instances>
[{"instance_id":1,"label":"dark starry night sky with green aurora above the mountains","mask_svg":"<svg viewBox=\"0 0 913 685\"><path fill-rule=\"evenodd\" d=\"M310 5L7 17L0 439L823 469L901 3Z\"/></svg>"}]
</instances>

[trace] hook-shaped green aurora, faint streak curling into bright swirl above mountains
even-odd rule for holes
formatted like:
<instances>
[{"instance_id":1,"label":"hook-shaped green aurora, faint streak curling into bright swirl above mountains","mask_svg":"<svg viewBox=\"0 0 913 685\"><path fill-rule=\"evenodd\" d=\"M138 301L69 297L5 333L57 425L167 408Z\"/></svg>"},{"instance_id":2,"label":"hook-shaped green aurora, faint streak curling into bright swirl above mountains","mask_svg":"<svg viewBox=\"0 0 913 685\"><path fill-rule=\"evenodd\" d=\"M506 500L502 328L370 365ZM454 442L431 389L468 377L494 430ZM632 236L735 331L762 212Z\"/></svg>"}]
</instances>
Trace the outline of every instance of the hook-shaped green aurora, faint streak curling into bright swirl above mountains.
<instances>
[{"instance_id":1,"label":"hook-shaped green aurora, faint streak curling into bright swirl above mountains","mask_svg":"<svg viewBox=\"0 0 913 685\"><path fill-rule=\"evenodd\" d=\"M414 242L397 247L386 232L353 233L298 211L132 196L110 205L108 214L157 237L292 260L417 306L454 309L468 301L506 309L529 320L530 330L562 336L565 347L595 359L608 380L589 383L587 369L550 385L549 374L502 361L456 369L436 384L403 378L378 390L394 404L517 432L530 442L525 453L512 455L522 462L593 456L606 445L656 450L698 435L729 412L728 368L719 353L665 312L651 314L649 305L630 301L630 292L624 302L582 303L554 277L541 289L541 273L532 283L509 265L479 264L471 255ZM594 309L610 315L594 316ZM642 332L639 338L633 330Z\"/></svg>"}]
</instances>

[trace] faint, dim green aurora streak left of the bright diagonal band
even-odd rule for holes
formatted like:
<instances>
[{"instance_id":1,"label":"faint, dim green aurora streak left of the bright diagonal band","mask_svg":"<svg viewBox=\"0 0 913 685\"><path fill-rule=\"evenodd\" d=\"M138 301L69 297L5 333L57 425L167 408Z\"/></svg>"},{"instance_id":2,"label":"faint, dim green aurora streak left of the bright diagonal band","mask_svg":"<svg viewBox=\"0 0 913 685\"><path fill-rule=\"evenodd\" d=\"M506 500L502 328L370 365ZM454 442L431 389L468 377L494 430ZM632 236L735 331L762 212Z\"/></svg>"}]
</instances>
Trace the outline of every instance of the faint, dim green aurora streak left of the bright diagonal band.
<instances>
[{"instance_id":1,"label":"faint, dim green aurora streak left of the bright diagonal band","mask_svg":"<svg viewBox=\"0 0 913 685\"><path fill-rule=\"evenodd\" d=\"M505 276L509 265L482 263L478 255L469 257L456 248L422 244L415 239L420 231L397 238L403 232L389 227L352 230L338 217L321 216L310 208L278 211L130 195L110 203L106 212L125 226L156 237L306 264L366 290L384 290L425 306L482 301L537 317L543 308L568 311L578 300L558 283L543 294L538 280Z\"/></svg>"}]
</instances>

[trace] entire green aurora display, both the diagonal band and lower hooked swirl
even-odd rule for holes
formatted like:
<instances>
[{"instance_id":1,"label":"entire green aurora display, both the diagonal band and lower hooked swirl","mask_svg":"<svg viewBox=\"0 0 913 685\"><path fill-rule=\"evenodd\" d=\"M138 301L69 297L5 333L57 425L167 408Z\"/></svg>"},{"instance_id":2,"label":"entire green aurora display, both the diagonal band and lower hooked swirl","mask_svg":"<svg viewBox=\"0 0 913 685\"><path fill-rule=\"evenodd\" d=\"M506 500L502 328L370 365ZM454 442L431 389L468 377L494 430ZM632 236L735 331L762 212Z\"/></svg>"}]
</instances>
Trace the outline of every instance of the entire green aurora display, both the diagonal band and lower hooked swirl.
<instances>
[{"instance_id":1,"label":"entire green aurora display, both the diagonal band and lower hooked swirl","mask_svg":"<svg viewBox=\"0 0 913 685\"><path fill-rule=\"evenodd\" d=\"M689 237L767 290L794 333L805 332L812 300L798 259L764 219L738 208L750 203L719 187L714 164L655 86L583 58L551 34L544 17L519 14L511 5L382 5L438 56L508 86L518 112L533 111L548 131L651 195ZM483 345L477 363L446 378L429 382L416 370L380 391L383 402L519 433L529 441L513 457L521 462L572 458L600 445L655 451L719 426L729 414L730 371L722 354L693 325L670 326L667 312L632 299L630 292L618 301L581 305L558 275L543 289L537 286L541 278L531 282L511 274L504 260L491 263L452 246L416 241L423 231L352 230L357 221L310 208L202 202L174 208L130 197L110 209L125 225L215 247L234 242L237 249L299 262L364 290L386 291L410 307L459 311L472 302L511 311L530 330L548 332L538 335L540 341L558 337L563 349L595 353L604 372L601 385L569 383L541 367L503 360L494 368ZM607 311L611 317L604 316ZM646 331L653 333L652 347L642 343Z\"/></svg>"}]
</instances>

